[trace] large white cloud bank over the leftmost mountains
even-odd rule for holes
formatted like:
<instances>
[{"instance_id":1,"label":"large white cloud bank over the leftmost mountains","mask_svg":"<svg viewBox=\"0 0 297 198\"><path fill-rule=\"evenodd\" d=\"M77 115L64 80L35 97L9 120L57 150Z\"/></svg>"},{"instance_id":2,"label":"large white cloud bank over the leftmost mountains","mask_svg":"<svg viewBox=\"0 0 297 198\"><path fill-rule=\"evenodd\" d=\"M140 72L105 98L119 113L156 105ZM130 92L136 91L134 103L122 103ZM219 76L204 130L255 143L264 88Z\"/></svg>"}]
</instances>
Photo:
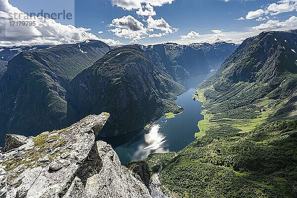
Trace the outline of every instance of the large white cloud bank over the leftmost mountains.
<instances>
[{"instance_id":1,"label":"large white cloud bank over the leftmost mountains","mask_svg":"<svg viewBox=\"0 0 297 198\"><path fill-rule=\"evenodd\" d=\"M18 21L34 21L35 26L11 26L11 13L21 14ZM53 19L28 16L26 13L12 6L8 0L0 0L0 45L42 45L42 44L71 44L88 39L100 40L90 33L91 29L62 25ZM109 43L110 44L110 43Z\"/></svg>"}]
</instances>

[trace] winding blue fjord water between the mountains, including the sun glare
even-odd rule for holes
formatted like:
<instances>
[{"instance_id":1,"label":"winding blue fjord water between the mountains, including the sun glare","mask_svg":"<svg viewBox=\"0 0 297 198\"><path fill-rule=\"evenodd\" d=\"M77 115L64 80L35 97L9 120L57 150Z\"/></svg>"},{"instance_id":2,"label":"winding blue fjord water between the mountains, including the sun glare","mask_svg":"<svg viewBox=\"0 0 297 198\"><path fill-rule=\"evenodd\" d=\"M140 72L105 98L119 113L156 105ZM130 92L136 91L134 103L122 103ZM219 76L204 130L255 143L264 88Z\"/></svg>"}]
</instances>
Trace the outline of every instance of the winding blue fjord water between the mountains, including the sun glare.
<instances>
[{"instance_id":1,"label":"winding blue fjord water between the mountains, including the sun glare","mask_svg":"<svg viewBox=\"0 0 297 198\"><path fill-rule=\"evenodd\" d=\"M186 92L176 103L184 108L182 114L166 119L162 116L148 130L135 131L115 138L99 138L117 152L122 164L142 160L150 153L179 151L195 140L198 121L203 119L201 103L194 101L195 88L211 74L200 75L182 83Z\"/></svg>"}]
</instances>

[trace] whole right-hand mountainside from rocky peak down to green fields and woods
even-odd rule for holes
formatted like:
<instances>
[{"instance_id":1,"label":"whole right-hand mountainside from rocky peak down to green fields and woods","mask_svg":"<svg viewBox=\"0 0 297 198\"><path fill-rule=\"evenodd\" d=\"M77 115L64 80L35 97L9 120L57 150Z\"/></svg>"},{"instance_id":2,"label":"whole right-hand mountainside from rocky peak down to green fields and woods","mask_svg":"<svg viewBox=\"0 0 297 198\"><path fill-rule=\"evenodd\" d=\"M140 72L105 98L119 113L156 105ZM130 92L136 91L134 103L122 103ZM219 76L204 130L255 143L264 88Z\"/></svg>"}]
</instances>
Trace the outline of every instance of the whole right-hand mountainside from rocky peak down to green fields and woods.
<instances>
[{"instance_id":1,"label":"whole right-hand mountainside from rocky peak down to green fields and woods","mask_svg":"<svg viewBox=\"0 0 297 198\"><path fill-rule=\"evenodd\" d=\"M297 197L297 30L244 41L198 86L197 140L145 161L175 197Z\"/></svg>"}]
</instances>

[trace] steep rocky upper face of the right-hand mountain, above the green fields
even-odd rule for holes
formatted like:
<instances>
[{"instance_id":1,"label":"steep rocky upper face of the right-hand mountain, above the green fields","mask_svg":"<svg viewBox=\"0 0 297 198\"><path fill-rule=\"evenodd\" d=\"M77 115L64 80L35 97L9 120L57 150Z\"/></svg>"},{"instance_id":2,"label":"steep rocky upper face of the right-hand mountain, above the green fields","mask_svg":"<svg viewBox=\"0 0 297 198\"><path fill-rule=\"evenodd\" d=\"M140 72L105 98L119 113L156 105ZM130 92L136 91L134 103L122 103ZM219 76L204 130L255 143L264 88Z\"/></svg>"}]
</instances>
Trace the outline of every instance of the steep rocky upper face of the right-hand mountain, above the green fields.
<instances>
[{"instance_id":1,"label":"steep rocky upper face of the right-hand mountain, above the green fields","mask_svg":"<svg viewBox=\"0 0 297 198\"><path fill-rule=\"evenodd\" d=\"M297 89L297 31L263 32L247 39L220 70L200 86L213 85L204 95L217 105L208 108L213 113L232 114L242 107L257 116L258 99L290 99ZM226 105L226 104L229 105ZM231 104L231 105L230 105ZM251 106L250 106L251 105ZM231 111L228 111L231 110ZM259 109L258 109L259 110ZM238 117L239 114L233 117Z\"/></svg>"}]
</instances>

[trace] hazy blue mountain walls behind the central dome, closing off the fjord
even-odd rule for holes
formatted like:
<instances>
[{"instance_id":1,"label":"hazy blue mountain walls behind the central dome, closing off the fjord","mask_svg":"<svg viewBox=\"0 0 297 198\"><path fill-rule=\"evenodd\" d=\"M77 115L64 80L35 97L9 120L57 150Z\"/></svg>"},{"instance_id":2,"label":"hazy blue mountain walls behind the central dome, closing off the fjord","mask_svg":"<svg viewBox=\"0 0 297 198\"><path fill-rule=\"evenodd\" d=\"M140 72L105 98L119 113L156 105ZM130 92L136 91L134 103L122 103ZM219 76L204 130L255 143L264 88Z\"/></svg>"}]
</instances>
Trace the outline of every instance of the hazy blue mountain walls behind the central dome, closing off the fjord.
<instances>
[{"instance_id":1,"label":"hazy blue mountain walls behind the central dome, closing off the fjord","mask_svg":"<svg viewBox=\"0 0 297 198\"><path fill-rule=\"evenodd\" d=\"M211 69L217 69L223 61L237 48L236 44L191 44L178 45L175 43L142 46L159 54L168 73L177 81L207 74Z\"/></svg>"}]
</instances>

